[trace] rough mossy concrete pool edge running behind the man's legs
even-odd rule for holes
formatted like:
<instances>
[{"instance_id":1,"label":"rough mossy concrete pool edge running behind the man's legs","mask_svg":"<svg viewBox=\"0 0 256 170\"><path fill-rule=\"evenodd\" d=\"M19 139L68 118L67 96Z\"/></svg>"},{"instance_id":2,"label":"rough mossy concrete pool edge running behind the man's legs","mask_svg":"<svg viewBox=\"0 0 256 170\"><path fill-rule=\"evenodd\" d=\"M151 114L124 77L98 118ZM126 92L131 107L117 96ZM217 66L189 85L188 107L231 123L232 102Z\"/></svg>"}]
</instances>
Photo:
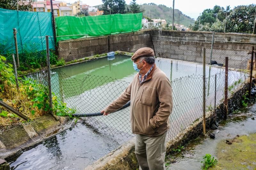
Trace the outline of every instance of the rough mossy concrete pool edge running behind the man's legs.
<instances>
[{"instance_id":1,"label":"rough mossy concrete pool edge running behind the man's legs","mask_svg":"<svg viewBox=\"0 0 256 170\"><path fill-rule=\"evenodd\" d=\"M253 75L255 77L255 73ZM240 99L242 95L248 90L249 87L249 78L246 79L245 83L243 83L239 88L235 90L233 95L228 98L228 105L233 106L231 108L231 112L234 109L237 109L241 103ZM238 100L239 99L239 100ZM237 108L234 107L236 103ZM224 103L221 102L216 108L216 115L217 120L221 120L224 115ZM214 112L207 112L206 113L206 128L210 128L213 124L215 119ZM170 151L172 148L176 148L179 144L186 144L191 139L194 139L198 135L202 134L202 123L203 119L199 118L193 124L188 126L185 130L183 130L180 134L178 134L173 140L167 142L166 148L167 152ZM133 165L129 164L133 163ZM125 166L126 165L126 166ZM132 138L125 144L120 145L115 150L111 151L104 157L98 159L97 161L93 162L92 165L89 165L84 168L84 170L103 170L103 169L118 169L122 167L122 169L136 169L138 168L138 161L135 156L135 138Z\"/></svg>"}]
</instances>

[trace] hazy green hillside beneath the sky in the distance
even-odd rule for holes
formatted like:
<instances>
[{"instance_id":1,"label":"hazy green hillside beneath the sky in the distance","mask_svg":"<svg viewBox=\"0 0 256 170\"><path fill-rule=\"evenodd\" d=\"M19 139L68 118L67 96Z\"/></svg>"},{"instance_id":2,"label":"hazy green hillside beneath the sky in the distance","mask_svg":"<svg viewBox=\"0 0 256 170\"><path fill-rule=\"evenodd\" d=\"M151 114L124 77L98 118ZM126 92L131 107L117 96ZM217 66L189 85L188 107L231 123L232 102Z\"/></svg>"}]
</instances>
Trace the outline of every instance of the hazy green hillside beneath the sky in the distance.
<instances>
[{"instance_id":1,"label":"hazy green hillside beneath the sky in the distance","mask_svg":"<svg viewBox=\"0 0 256 170\"><path fill-rule=\"evenodd\" d=\"M143 16L150 17L152 19L165 19L168 24L172 24L172 8L169 8L165 5L141 5L144 9ZM180 13L180 25L189 26L194 25L195 20L184 15L180 10L174 9L174 23L179 23L179 13Z\"/></svg>"}]
</instances>

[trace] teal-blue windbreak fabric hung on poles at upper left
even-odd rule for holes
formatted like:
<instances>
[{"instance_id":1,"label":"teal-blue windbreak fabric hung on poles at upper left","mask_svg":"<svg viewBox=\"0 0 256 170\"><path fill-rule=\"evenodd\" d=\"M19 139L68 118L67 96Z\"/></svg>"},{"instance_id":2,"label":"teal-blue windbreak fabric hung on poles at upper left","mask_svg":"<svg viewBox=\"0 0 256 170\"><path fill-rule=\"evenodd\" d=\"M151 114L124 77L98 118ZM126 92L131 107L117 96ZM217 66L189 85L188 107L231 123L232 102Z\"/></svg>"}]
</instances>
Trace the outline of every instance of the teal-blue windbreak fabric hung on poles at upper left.
<instances>
[{"instance_id":1,"label":"teal-blue windbreak fabric hung on poles at upper left","mask_svg":"<svg viewBox=\"0 0 256 170\"><path fill-rule=\"evenodd\" d=\"M17 29L19 53L44 50L46 48L45 35L50 35L53 41L51 16L50 12L14 11L0 8L0 54L15 53L12 28ZM49 48L54 48L51 39L49 41Z\"/></svg>"}]
</instances>

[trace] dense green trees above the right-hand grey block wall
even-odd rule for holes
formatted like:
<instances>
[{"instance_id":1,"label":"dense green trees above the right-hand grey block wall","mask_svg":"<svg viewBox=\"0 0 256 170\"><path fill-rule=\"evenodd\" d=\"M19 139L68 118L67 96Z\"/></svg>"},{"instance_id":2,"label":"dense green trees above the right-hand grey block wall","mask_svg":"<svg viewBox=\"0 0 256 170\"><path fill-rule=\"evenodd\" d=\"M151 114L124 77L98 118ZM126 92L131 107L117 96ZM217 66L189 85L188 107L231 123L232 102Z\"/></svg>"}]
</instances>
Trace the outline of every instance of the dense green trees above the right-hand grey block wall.
<instances>
[{"instance_id":1,"label":"dense green trees above the right-hand grey block wall","mask_svg":"<svg viewBox=\"0 0 256 170\"><path fill-rule=\"evenodd\" d=\"M230 10L230 6L226 9L214 6L213 9L204 10L201 18L198 17L190 28L198 30L200 19L200 31L252 33L255 17L255 4L237 6L233 10Z\"/></svg>"}]
</instances>

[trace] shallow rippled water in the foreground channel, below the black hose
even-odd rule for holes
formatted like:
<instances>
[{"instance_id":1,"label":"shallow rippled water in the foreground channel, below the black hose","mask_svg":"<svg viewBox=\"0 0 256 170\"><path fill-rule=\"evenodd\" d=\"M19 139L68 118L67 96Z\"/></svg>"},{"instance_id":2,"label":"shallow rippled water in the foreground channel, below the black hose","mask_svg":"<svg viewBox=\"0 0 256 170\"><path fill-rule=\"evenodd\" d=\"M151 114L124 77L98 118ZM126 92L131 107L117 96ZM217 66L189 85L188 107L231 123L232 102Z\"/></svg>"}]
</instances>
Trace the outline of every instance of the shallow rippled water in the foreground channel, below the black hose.
<instances>
[{"instance_id":1,"label":"shallow rippled water in the foreground channel, below the black hose","mask_svg":"<svg viewBox=\"0 0 256 170\"><path fill-rule=\"evenodd\" d=\"M128 140L129 138L127 138ZM103 134L85 123L77 123L41 144L8 160L11 169L84 169L108 154L124 138Z\"/></svg>"}]
</instances>

